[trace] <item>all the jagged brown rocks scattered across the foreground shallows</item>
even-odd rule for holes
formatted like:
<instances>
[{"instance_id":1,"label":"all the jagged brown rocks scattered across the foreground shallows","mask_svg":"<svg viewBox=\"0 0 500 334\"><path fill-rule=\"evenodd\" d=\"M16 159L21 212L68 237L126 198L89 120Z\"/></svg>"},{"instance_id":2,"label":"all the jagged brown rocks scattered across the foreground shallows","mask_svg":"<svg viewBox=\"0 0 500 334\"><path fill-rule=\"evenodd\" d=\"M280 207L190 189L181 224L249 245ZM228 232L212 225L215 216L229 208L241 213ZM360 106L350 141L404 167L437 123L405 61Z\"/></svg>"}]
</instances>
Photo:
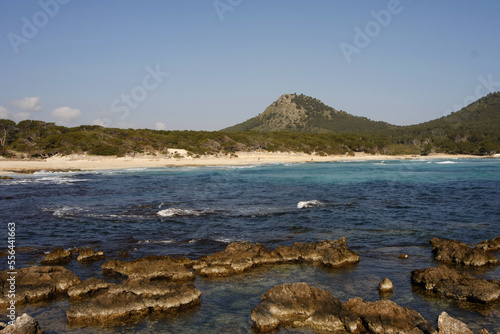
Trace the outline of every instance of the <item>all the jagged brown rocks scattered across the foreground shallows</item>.
<instances>
[{"instance_id":1,"label":"all the jagged brown rocks scattered across the foreground shallows","mask_svg":"<svg viewBox=\"0 0 500 334\"><path fill-rule=\"evenodd\" d=\"M468 266L499 263L490 252L500 248L500 238L483 241L475 247L446 239L432 239L431 245L436 260L443 263ZM114 280L119 281L110 283L95 277L82 282L67 268L56 265L67 264L76 254L82 262L105 258L103 252L94 249L57 248L40 261L45 266L18 270L15 303L34 305L65 298L70 302L66 316L72 326L110 326L151 314L182 311L203 303L202 292L196 287L197 275L210 279L244 274L264 265L309 263L329 268L360 261L359 255L347 247L345 238L295 243L274 250L243 241L233 242L223 251L196 260L172 256L147 256L131 261L111 259L101 266L105 278L115 277ZM489 305L497 305L500 301L499 281L477 278L446 265L415 269L409 276L412 284L442 298ZM8 286L8 272L0 272L2 307L11 302ZM277 285L262 295L250 317L254 331L260 333L275 332L281 327L307 327L334 333L470 332L466 324L446 313L439 317L436 329L419 312L387 300L393 293L389 278L384 279L378 288L381 298L386 293L389 293L388 297L386 295L383 300L375 302L365 301L362 297L341 302L330 291L306 283ZM33 328L29 333L43 333L36 321L27 317L17 318L22 324L17 321L15 325L0 324L0 333L21 333L19 328L27 323Z\"/></svg>"}]
</instances>

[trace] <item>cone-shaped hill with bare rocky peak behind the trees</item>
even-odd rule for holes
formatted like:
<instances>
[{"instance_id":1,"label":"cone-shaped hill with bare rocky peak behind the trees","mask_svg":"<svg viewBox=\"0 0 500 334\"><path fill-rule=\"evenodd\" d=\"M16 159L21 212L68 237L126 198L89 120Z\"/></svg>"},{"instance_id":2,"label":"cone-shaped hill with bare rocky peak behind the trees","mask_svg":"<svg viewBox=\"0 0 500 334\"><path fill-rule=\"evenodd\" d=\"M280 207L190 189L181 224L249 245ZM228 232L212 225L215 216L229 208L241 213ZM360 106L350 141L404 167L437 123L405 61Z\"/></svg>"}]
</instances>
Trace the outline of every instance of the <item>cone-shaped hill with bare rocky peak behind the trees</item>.
<instances>
[{"instance_id":1,"label":"cone-shaped hill with bare rocky peak behind the trees","mask_svg":"<svg viewBox=\"0 0 500 334\"><path fill-rule=\"evenodd\" d=\"M285 94L267 107L262 114L221 131L359 133L392 128L395 126L336 110L318 99L303 94Z\"/></svg>"}]
</instances>

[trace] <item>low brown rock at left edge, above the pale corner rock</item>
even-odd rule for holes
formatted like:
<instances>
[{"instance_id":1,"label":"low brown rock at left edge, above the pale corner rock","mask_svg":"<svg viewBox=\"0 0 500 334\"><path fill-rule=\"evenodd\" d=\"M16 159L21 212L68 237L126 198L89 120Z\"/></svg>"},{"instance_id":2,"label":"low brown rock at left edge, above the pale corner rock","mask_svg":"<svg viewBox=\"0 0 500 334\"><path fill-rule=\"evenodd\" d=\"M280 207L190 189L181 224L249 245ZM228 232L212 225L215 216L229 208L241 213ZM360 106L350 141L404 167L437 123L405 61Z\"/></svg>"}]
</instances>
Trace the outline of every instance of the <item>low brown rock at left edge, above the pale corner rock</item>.
<instances>
[{"instance_id":1,"label":"low brown rock at left edge, above the pale corner rock","mask_svg":"<svg viewBox=\"0 0 500 334\"><path fill-rule=\"evenodd\" d=\"M8 271L0 273L0 307L9 304L8 298L12 275ZM64 267L28 267L17 270L15 275L16 305L48 301L59 295L66 295L72 286L82 280Z\"/></svg>"}]
</instances>

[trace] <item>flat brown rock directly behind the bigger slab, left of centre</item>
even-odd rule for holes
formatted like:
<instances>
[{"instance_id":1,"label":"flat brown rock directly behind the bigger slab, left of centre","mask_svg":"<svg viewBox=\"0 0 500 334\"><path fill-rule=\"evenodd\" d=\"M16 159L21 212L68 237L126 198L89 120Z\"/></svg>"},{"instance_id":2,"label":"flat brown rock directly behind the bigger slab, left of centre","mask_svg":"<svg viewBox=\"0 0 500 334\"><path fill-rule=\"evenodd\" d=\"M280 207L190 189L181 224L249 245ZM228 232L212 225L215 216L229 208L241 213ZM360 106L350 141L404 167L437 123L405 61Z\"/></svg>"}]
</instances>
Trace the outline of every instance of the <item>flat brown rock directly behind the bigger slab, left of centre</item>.
<instances>
[{"instance_id":1,"label":"flat brown rock directly behind the bigger slab, left of centre","mask_svg":"<svg viewBox=\"0 0 500 334\"><path fill-rule=\"evenodd\" d=\"M110 260L101 268L105 273L119 273L130 279L164 279L170 281L190 281L195 276L189 270L193 266L185 257L146 256L134 261Z\"/></svg>"}]
</instances>

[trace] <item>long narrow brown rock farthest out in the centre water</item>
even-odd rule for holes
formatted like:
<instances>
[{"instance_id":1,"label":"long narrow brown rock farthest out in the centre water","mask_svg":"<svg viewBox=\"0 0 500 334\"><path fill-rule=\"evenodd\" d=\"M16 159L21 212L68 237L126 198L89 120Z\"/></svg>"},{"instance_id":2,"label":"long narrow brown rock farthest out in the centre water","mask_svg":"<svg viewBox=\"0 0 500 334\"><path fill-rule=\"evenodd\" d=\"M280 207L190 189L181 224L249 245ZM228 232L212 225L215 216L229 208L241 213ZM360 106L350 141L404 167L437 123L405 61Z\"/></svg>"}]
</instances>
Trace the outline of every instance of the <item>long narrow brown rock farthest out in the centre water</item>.
<instances>
[{"instance_id":1,"label":"long narrow brown rock farthest out in the centre water","mask_svg":"<svg viewBox=\"0 0 500 334\"><path fill-rule=\"evenodd\" d=\"M325 266L342 266L359 262L359 256L341 238L334 241L297 242L293 246L280 246L271 251L261 244L248 241L233 242L224 251L201 256L193 269L202 276L230 276L254 266L286 262L319 262Z\"/></svg>"}]
</instances>

